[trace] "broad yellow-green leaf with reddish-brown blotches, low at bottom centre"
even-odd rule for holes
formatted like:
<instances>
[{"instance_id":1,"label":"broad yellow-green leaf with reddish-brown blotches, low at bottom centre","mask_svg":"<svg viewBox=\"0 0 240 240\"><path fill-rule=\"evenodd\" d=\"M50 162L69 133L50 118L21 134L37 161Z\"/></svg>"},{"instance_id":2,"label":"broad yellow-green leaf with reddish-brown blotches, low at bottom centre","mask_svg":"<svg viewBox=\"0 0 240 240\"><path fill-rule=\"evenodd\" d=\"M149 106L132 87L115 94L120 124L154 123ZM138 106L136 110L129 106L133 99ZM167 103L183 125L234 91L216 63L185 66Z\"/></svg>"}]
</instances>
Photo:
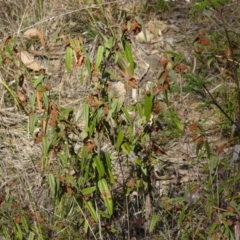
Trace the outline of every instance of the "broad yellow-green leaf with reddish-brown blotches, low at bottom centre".
<instances>
[{"instance_id":1,"label":"broad yellow-green leaf with reddish-brown blotches, low at bottom centre","mask_svg":"<svg viewBox=\"0 0 240 240\"><path fill-rule=\"evenodd\" d=\"M112 194L109 190L107 181L105 179L99 180L98 188L99 188L101 197L105 203L105 206L106 206L109 214L112 215L113 214L113 200L112 200Z\"/></svg>"}]
</instances>

